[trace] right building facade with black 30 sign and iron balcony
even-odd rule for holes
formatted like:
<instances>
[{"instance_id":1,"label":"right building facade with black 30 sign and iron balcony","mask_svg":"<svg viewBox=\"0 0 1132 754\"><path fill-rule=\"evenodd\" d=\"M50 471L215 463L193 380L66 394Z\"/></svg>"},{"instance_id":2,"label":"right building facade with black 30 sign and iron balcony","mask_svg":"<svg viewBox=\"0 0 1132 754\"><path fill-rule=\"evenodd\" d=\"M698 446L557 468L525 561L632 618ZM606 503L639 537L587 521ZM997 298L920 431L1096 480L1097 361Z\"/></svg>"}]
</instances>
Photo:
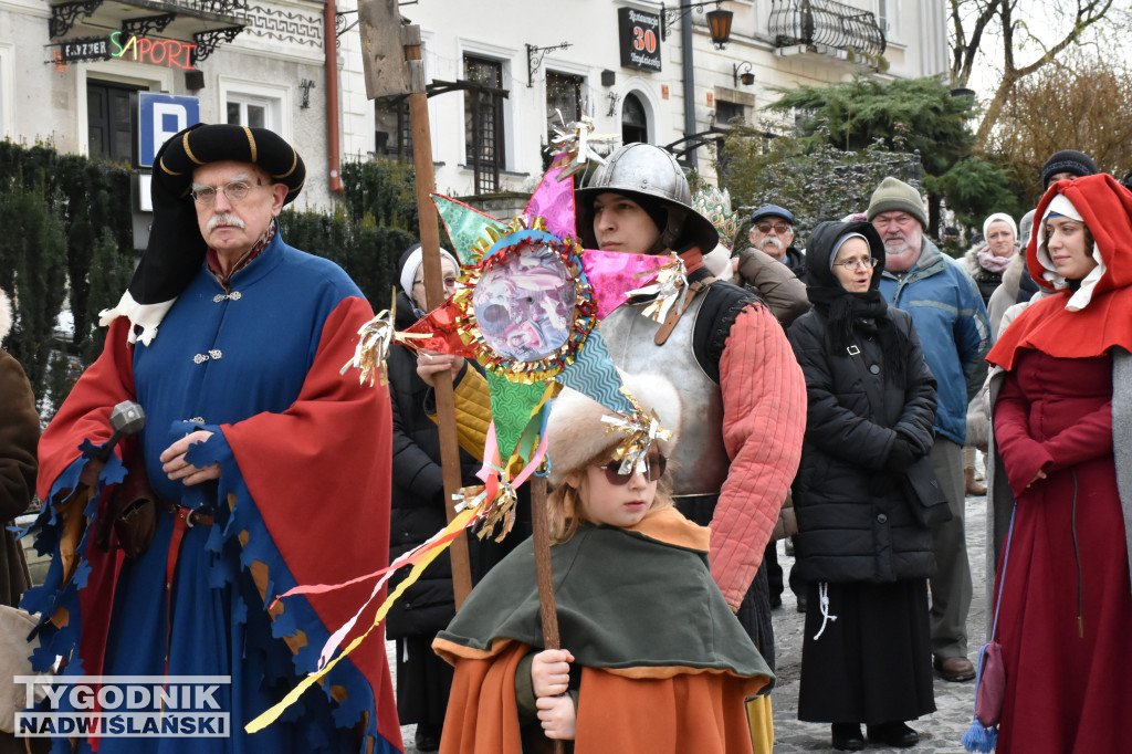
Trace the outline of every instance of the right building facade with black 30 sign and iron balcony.
<instances>
[{"instance_id":1,"label":"right building facade with black 30 sign and iron balcony","mask_svg":"<svg viewBox=\"0 0 1132 754\"><path fill-rule=\"evenodd\" d=\"M717 9L731 12L722 49ZM774 87L947 69L942 0L420 0L401 11L421 29L437 190L464 197L533 190L555 126L581 115L598 135L670 146L711 180L713 130L758 122ZM343 88L363 91L368 52L343 50ZM361 121L352 134L372 128L359 156L411 154L405 108L344 113Z\"/></svg>"}]
</instances>

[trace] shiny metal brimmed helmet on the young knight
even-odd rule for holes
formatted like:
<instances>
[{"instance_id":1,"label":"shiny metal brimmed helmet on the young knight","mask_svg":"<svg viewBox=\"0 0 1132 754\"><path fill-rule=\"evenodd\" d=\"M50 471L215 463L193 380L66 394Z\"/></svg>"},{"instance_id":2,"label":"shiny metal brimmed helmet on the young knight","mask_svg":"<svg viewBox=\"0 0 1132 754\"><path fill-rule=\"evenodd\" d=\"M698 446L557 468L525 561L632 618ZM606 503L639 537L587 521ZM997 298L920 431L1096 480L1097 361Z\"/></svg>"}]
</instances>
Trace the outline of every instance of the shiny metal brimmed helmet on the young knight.
<instances>
[{"instance_id":1,"label":"shiny metal brimmed helmet on the young knight","mask_svg":"<svg viewBox=\"0 0 1132 754\"><path fill-rule=\"evenodd\" d=\"M707 254L719 243L719 231L710 220L692 207L692 191L676 157L652 144L626 144L598 168L589 183L574 192L577 207L577 234L583 246L598 248L593 233L593 199L600 194L624 194L631 199L658 200L667 209L668 222L660 240L649 250L683 251L689 246Z\"/></svg>"}]
</instances>

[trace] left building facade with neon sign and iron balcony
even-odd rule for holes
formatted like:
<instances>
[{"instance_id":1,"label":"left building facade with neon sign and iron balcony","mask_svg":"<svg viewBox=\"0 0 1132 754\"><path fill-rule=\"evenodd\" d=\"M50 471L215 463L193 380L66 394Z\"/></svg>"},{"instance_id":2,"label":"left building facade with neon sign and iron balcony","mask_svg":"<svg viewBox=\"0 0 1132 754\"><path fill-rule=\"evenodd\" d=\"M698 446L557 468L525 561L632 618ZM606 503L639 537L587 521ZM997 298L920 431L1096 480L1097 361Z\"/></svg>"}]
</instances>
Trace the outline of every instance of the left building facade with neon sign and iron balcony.
<instances>
[{"instance_id":1,"label":"left building facade with neon sign and iron balcony","mask_svg":"<svg viewBox=\"0 0 1132 754\"><path fill-rule=\"evenodd\" d=\"M327 42L335 83L340 51L326 10L309 0L0 0L0 136L145 175L148 130L160 137L182 121L168 106L147 118L139 93L188 97L199 120L266 127L294 144L308 168L298 205L329 207L331 155L342 149L328 138L337 102L327 106Z\"/></svg>"}]
</instances>

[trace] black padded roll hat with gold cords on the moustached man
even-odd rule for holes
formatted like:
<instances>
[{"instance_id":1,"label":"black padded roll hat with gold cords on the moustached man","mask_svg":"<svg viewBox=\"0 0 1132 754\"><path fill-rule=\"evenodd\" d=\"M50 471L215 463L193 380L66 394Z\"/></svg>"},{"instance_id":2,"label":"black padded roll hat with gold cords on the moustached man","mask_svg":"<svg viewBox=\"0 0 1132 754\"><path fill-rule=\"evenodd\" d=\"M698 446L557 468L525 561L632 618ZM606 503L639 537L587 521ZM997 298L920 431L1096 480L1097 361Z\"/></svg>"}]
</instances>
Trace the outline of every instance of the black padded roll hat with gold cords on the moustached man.
<instances>
[{"instance_id":1,"label":"black padded roll hat with gold cords on the moustached man","mask_svg":"<svg viewBox=\"0 0 1132 754\"><path fill-rule=\"evenodd\" d=\"M180 197L191 188L194 170L225 161L257 165L286 186L283 204L293 202L307 180L302 157L278 134L229 123L197 123L173 136L154 165L153 175Z\"/></svg>"}]
</instances>

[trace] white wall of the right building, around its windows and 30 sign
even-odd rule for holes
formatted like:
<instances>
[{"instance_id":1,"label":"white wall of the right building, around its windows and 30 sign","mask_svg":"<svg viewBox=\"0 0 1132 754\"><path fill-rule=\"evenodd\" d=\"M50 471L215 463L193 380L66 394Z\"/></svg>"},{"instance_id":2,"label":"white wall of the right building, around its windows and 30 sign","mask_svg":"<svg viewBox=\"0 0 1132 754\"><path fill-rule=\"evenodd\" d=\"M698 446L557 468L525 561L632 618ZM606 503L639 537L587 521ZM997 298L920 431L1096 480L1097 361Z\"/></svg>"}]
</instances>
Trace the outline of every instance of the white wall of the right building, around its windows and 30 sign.
<instances>
[{"instance_id":1,"label":"white wall of the right building, around its windows and 30 sign","mask_svg":"<svg viewBox=\"0 0 1132 754\"><path fill-rule=\"evenodd\" d=\"M877 10L876 0L855 0L849 5L873 12ZM661 71L621 68L617 24L617 9L620 7L660 12L660 3L649 0L572 0L568 3L546 0L496 0L491 3L428 0L402 9L421 28L427 79L463 78L465 53L503 62L503 86L509 95L504 101L506 165L500 175L501 190L531 191L542 172L540 146L547 132L547 69L585 78L598 134L619 137L624 97L634 92L651 111L651 142L664 145L684 136L680 27L686 19L677 20L668 38L661 43ZM757 119L760 113L756 109L778 96L770 91L771 87L843 80L860 70L859 65L830 54L780 54L767 29L771 0L729 0L727 7L735 12L735 20L731 43L722 51L712 46L705 17L695 12L688 16L695 24L693 60L697 131L707 129L717 98L744 104L748 119ZM891 65L887 75L919 77L945 70L946 26L942 0L889 0L889 9L894 28L885 54ZM557 20L549 20L551 18ZM569 42L572 46L547 54L534 76L533 87L529 87L525 44L551 46L561 42ZM365 91L360 75L360 48L343 43L342 55L343 70L358 71L351 76L351 85ZM755 84L737 86L734 66L747 62L755 75ZM601 86L602 70L616 74L614 86ZM616 100L611 115L610 95ZM429 100L437 189L455 196L472 192L472 171L463 166L463 96L462 93L449 93ZM350 112L359 110L351 108ZM372 117L368 114L367 118L370 123L368 130L372 131ZM359 120L360 117L352 115L351 122ZM359 137L357 144L361 153L366 145L372 145L372 137ZM710 152L701 148L697 156L701 172L710 178Z\"/></svg>"}]
</instances>

